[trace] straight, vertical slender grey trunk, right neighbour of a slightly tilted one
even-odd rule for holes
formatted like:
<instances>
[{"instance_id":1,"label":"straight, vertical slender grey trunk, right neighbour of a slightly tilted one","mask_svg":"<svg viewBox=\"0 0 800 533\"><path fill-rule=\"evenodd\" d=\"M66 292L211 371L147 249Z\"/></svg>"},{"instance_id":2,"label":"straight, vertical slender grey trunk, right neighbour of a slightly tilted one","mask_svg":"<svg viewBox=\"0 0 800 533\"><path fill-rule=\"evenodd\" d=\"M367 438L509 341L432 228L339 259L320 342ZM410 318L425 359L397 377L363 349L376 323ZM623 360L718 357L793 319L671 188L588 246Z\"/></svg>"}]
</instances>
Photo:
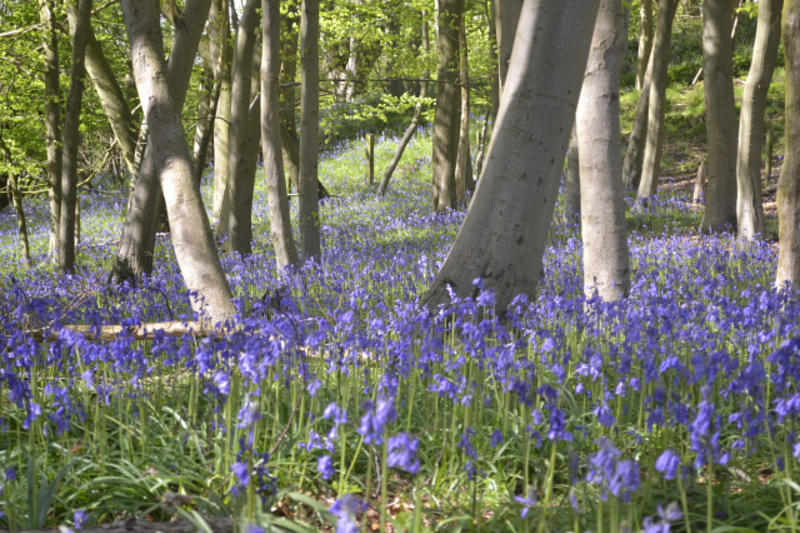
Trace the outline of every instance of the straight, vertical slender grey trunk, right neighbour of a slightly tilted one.
<instances>
[{"instance_id":1,"label":"straight, vertical slender grey trunk, right neighbour of a slightly tilted one","mask_svg":"<svg viewBox=\"0 0 800 533\"><path fill-rule=\"evenodd\" d=\"M319 0L303 0L300 21L300 235L303 257L319 258Z\"/></svg>"}]
</instances>

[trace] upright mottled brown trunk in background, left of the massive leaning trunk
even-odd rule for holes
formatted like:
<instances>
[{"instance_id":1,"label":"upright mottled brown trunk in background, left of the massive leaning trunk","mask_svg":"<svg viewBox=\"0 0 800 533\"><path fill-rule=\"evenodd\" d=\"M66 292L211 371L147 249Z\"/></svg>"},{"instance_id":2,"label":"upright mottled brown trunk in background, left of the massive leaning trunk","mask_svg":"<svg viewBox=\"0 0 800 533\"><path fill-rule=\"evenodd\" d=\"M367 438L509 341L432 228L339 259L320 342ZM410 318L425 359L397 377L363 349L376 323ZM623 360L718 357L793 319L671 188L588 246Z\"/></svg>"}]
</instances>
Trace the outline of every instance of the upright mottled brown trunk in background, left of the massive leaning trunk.
<instances>
[{"instance_id":1,"label":"upright mottled brown trunk in background, left of the massive leaning trunk","mask_svg":"<svg viewBox=\"0 0 800 533\"><path fill-rule=\"evenodd\" d=\"M458 34L464 0L440 0L437 13L436 113L433 119L433 209L456 207L456 159L460 132Z\"/></svg>"}]
</instances>

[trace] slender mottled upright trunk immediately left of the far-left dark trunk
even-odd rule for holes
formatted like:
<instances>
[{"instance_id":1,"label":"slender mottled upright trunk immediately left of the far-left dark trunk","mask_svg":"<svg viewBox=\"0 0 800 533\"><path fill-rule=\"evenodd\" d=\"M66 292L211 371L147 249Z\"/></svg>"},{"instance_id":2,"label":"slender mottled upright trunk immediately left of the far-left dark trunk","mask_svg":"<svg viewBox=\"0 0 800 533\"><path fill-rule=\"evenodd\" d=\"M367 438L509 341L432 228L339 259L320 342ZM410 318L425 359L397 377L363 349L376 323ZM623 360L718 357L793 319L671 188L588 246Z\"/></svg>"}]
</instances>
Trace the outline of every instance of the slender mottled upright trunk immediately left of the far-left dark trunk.
<instances>
[{"instance_id":1,"label":"slender mottled upright trunk immediately left of the far-left dark trunk","mask_svg":"<svg viewBox=\"0 0 800 533\"><path fill-rule=\"evenodd\" d=\"M47 183L50 195L48 256L58 259L61 219L61 88L58 74L58 33L53 0L39 0L44 56L44 124L47 143Z\"/></svg>"}]
</instances>

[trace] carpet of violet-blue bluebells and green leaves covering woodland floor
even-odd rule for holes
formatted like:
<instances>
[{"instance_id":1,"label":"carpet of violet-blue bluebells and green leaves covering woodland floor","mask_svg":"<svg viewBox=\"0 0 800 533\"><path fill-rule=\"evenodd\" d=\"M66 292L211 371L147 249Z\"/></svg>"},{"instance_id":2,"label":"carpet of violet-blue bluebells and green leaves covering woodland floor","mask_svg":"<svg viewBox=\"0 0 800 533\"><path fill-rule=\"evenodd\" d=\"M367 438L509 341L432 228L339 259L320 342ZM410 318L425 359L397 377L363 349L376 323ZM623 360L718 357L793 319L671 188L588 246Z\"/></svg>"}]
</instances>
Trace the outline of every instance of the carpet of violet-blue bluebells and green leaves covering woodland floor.
<instances>
[{"instance_id":1,"label":"carpet of violet-blue bluebells and green leaves covering woodland floor","mask_svg":"<svg viewBox=\"0 0 800 533\"><path fill-rule=\"evenodd\" d=\"M106 284L124 196L82 196L65 278L23 270L0 213L0 527L800 528L800 298L774 290L774 247L673 227L667 198L631 218L650 227L623 302L584 298L579 232L557 223L505 320L482 289L429 312L463 212L430 211L427 132L408 150L383 199L360 147L325 156L323 255L295 272L275 272L259 185L255 253L223 257L241 327L219 339L62 328L193 318L168 236L152 277ZM26 209L43 261L46 206Z\"/></svg>"}]
</instances>

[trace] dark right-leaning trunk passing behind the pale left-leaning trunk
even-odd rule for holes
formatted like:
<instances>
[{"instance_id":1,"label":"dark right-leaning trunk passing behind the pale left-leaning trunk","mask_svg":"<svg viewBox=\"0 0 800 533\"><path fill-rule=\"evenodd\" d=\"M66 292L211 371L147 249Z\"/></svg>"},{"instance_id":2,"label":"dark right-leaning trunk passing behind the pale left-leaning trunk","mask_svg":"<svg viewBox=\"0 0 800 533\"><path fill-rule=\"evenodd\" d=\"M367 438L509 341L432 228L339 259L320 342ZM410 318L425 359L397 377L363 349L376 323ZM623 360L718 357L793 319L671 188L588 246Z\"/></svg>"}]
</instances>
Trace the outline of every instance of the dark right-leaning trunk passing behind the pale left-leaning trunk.
<instances>
[{"instance_id":1,"label":"dark right-leaning trunk passing behind the pale left-leaning trunk","mask_svg":"<svg viewBox=\"0 0 800 533\"><path fill-rule=\"evenodd\" d=\"M170 97L177 111L183 108L194 64L194 56L203 26L208 19L211 0L189 0L181 15L182 31L176 33L169 55L168 75ZM153 269L153 250L159 223L162 194L153 157L152 137L146 122L140 140L145 139L141 163L133 180L128 212L122 227L119 250L111 276L118 280L135 279Z\"/></svg>"}]
</instances>

